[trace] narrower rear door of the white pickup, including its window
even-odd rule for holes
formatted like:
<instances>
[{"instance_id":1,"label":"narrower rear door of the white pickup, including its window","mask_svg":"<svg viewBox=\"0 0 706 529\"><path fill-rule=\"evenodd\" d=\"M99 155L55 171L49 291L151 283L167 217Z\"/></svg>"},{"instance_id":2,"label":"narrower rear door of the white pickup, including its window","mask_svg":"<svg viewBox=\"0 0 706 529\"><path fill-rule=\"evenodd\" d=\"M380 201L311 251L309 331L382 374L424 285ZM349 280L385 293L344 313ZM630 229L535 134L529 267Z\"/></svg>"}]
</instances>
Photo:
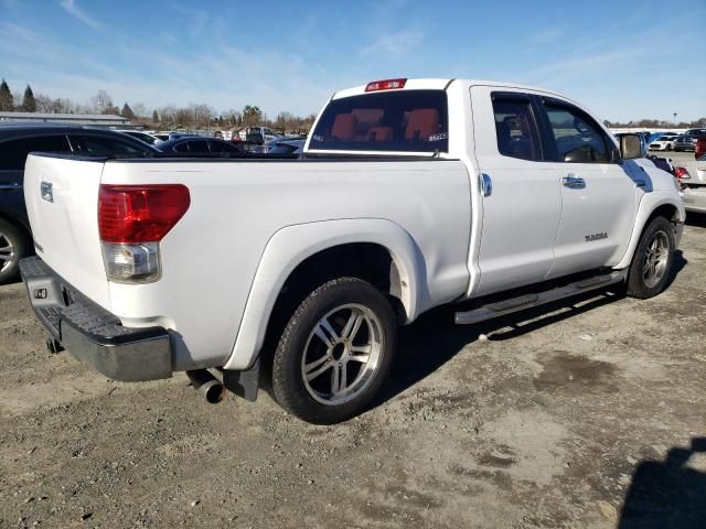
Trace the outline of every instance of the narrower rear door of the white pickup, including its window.
<instances>
[{"instance_id":1,"label":"narrower rear door of the white pickup, including its window","mask_svg":"<svg viewBox=\"0 0 706 529\"><path fill-rule=\"evenodd\" d=\"M554 263L561 191L533 97L471 88L482 228L474 295L542 281Z\"/></svg>"}]
</instances>

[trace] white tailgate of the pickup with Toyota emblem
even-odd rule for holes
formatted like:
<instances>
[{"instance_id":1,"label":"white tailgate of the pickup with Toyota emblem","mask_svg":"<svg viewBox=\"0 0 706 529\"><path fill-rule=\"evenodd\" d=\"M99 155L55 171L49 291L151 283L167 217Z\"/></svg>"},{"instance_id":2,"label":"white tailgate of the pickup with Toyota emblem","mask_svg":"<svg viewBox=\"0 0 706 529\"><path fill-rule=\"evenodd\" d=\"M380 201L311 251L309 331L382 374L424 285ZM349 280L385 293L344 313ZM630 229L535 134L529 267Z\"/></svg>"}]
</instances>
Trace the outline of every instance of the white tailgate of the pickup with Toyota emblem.
<instances>
[{"instance_id":1,"label":"white tailgate of the pickup with Toyota emblem","mask_svg":"<svg viewBox=\"0 0 706 529\"><path fill-rule=\"evenodd\" d=\"M104 161L28 158L24 202L38 256L64 280L109 309L98 237L98 188Z\"/></svg>"}]
</instances>

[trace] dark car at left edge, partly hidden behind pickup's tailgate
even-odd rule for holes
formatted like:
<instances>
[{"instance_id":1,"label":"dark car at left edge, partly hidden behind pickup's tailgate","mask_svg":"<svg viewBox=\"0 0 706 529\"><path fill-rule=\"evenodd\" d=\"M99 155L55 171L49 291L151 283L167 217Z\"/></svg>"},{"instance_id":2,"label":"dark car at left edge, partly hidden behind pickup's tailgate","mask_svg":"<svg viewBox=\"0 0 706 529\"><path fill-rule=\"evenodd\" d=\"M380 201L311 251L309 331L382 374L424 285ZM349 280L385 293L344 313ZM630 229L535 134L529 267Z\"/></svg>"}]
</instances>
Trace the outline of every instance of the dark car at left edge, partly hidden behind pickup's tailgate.
<instances>
[{"instance_id":1,"label":"dark car at left edge, partly hidden behind pickup's tailgate","mask_svg":"<svg viewBox=\"0 0 706 529\"><path fill-rule=\"evenodd\" d=\"M30 152L83 156L159 155L159 151L120 132L83 127L0 126L0 284L17 277L21 258L32 252L24 206L24 162Z\"/></svg>"}]
</instances>

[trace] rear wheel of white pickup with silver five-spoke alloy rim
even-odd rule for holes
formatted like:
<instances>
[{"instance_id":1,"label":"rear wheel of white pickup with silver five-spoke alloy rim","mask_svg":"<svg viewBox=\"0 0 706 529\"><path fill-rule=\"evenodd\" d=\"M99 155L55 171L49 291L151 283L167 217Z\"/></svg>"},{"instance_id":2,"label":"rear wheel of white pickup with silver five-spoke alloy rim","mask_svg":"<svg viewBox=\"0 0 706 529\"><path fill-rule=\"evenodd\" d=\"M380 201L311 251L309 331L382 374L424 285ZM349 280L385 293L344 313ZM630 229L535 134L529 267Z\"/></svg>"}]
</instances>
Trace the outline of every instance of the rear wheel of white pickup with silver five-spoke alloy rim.
<instances>
[{"instance_id":1,"label":"rear wheel of white pickup with silver five-spoke alloy rim","mask_svg":"<svg viewBox=\"0 0 706 529\"><path fill-rule=\"evenodd\" d=\"M324 333L329 342L314 333L327 328L321 325L324 320L330 323ZM344 343L332 346L336 339ZM354 345L356 341L359 344ZM315 424L334 424L355 417L366 409L387 378L396 341L395 313L382 292L357 278L331 280L301 302L279 339L272 360L275 398L290 413ZM364 358L364 352L356 355L349 347L367 348L367 363L354 359ZM310 376L321 370L310 380L306 380L307 364L318 366L308 373ZM350 391L346 393L349 388L343 388L344 391L336 395L334 380L339 389L342 380L353 380ZM330 389L330 395L322 388Z\"/></svg>"}]
</instances>

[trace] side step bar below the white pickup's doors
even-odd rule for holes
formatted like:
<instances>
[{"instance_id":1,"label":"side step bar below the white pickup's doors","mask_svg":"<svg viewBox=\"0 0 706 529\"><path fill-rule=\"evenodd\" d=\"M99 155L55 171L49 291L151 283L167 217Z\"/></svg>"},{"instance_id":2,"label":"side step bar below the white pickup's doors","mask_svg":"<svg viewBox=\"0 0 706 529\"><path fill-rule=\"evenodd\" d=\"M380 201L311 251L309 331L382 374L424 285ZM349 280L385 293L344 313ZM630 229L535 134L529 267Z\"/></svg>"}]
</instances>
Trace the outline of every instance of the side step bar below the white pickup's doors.
<instances>
[{"instance_id":1,"label":"side step bar below the white pickup's doors","mask_svg":"<svg viewBox=\"0 0 706 529\"><path fill-rule=\"evenodd\" d=\"M511 314L513 312L524 311L525 309L531 309L533 306L552 303L553 301L571 298L573 295L581 294L591 290L602 289L610 284L623 282L625 280L625 270L620 270L603 276L595 276L592 278L569 283L566 287L558 287L536 294L510 298L495 303L489 303L488 305L483 305L472 311L457 312L456 323L457 325L471 325L486 320L492 320L493 317Z\"/></svg>"}]
</instances>

